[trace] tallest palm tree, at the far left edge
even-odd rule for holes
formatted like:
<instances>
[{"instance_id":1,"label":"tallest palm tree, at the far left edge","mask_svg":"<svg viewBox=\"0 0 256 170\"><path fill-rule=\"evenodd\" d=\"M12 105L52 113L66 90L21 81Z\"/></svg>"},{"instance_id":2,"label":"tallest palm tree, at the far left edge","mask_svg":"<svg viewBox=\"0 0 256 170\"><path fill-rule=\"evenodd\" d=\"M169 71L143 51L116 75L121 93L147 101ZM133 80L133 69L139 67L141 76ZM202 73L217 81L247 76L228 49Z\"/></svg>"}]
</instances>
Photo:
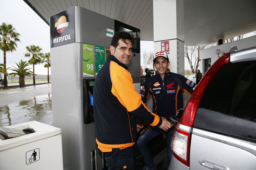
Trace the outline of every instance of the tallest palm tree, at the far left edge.
<instances>
[{"instance_id":1,"label":"tallest palm tree, at the far left edge","mask_svg":"<svg viewBox=\"0 0 256 170\"><path fill-rule=\"evenodd\" d=\"M11 24L2 23L0 26L0 49L4 51L4 69L6 70L6 51L14 51L16 50L17 41L19 39L20 34L16 31L15 28ZM7 85L7 76L4 75L4 89L8 89Z\"/></svg>"}]
</instances>

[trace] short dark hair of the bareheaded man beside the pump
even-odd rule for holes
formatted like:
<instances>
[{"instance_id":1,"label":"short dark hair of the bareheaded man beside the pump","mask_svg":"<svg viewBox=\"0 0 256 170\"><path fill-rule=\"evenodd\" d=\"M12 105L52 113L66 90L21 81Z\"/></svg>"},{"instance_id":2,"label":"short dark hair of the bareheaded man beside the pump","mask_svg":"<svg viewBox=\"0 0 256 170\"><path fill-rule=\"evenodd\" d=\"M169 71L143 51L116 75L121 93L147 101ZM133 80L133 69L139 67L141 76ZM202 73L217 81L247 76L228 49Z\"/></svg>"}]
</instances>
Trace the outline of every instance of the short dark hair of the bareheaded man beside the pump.
<instances>
[{"instance_id":1,"label":"short dark hair of the bareheaded man beside the pump","mask_svg":"<svg viewBox=\"0 0 256 170\"><path fill-rule=\"evenodd\" d=\"M115 32L112 40L111 40L111 45L116 48L119 45L119 40L122 40L124 43L128 44L126 42L126 40L130 40L132 42L132 45L134 44L134 39L132 37L132 35L130 33L126 33L126 32Z\"/></svg>"}]
</instances>

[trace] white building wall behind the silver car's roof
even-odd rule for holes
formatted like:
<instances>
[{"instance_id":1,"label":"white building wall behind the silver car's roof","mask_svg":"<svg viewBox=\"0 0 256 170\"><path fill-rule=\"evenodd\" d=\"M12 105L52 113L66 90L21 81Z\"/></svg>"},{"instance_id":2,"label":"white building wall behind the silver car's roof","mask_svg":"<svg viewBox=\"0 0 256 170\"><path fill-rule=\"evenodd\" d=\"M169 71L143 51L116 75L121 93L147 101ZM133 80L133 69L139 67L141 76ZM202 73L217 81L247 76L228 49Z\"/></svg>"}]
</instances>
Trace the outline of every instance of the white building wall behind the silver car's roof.
<instances>
[{"instance_id":1,"label":"white building wall behind the silver car's roof","mask_svg":"<svg viewBox=\"0 0 256 170\"><path fill-rule=\"evenodd\" d=\"M226 44L217 45L215 47L207 48L200 50L199 52L199 58L201 61L199 61L199 70L201 70L201 73L204 75L204 60L211 58L211 63L213 64L217 59L218 55L215 53L216 49L220 49L221 53L219 56L222 56L225 53L228 53L230 48L237 47L238 50L244 49L244 48L250 48L256 46L256 35L248 38L244 38L242 40L237 40L233 42L229 42Z\"/></svg>"}]
</instances>

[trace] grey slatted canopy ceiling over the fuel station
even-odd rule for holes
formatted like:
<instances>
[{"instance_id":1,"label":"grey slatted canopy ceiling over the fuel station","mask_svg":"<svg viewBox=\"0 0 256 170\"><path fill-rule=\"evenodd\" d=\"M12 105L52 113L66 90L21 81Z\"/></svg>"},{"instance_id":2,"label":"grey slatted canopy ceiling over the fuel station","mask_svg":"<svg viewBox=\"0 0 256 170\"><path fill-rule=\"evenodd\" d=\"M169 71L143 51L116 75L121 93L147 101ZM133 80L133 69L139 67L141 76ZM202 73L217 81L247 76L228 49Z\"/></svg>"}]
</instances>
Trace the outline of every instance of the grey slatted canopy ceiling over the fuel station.
<instances>
[{"instance_id":1,"label":"grey slatted canopy ceiling over the fuel station","mask_svg":"<svg viewBox=\"0 0 256 170\"><path fill-rule=\"evenodd\" d=\"M154 41L153 0L24 1L48 25L50 16L81 6L139 28L140 40ZM255 8L255 0L184 0L185 45L205 46L220 37L225 40L256 31ZM169 18L166 16L164 22L171 22Z\"/></svg>"}]
</instances>

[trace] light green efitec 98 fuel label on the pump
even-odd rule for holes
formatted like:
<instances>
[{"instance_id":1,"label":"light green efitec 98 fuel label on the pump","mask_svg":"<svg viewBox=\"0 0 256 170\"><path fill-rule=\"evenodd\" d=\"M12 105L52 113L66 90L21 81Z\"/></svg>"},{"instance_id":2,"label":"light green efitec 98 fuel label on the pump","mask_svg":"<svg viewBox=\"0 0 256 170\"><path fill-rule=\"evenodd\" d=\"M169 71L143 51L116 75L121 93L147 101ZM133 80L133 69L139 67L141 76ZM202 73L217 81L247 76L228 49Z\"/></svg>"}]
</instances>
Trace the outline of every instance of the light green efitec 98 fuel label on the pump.
<instances>
[{"instance_id":1,"label":"light green efitec 98 fuel label on the pump","mask_svg":"<svg viewBox=\"0 0 256 170\"><path fill-rule=\"evenodd\" d=\"M94 77L94 46L83 43L83 75Z\"/></svg>"}]
</instances>

